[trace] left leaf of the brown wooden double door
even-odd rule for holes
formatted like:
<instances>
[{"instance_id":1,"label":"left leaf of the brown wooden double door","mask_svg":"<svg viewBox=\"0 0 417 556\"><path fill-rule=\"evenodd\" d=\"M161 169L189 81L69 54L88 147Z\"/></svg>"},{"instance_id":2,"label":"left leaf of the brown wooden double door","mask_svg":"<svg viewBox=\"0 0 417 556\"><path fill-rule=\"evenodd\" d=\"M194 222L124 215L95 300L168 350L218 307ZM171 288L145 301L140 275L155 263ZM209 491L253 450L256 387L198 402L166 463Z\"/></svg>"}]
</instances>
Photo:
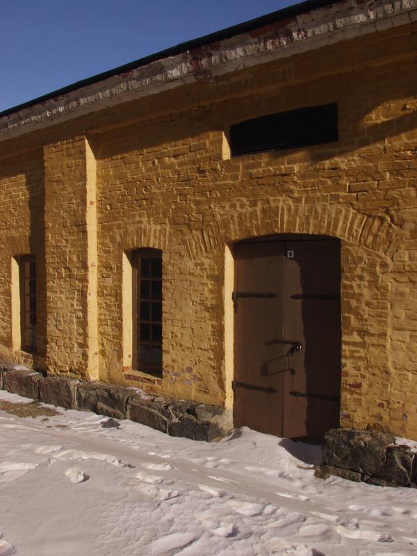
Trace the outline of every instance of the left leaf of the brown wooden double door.
<instances>
[{"instance_id":1,"label":"left leaf of the brown wooden double door","mask_svg":"<svg viewBox=\"0 0 417 556\"><path fill-rule=\"evenodd\" d=\"M281 435L284 245L241 243L234 254L235 425Z\"/></svg>"}]
</instances>

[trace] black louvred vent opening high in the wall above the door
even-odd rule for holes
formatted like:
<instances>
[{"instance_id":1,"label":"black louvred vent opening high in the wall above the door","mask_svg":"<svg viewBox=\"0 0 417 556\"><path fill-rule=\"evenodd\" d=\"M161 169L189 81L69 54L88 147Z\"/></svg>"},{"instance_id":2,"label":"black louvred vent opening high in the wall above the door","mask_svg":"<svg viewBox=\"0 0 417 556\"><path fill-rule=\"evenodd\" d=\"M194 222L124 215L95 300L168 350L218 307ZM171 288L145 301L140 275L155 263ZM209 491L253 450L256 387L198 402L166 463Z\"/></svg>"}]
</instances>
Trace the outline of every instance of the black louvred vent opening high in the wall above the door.
<instances>
[{"instance_id":1,"label":"black louvred vent opening high in the wall above the door","mask_svg":"<svg viewBox=\"0 0 417 556\"><path fill-rule=\"evenodd\" d=\"M230 127L231 156L337 140L337 104L270 114Z\"/></svg>"}]
</instances>

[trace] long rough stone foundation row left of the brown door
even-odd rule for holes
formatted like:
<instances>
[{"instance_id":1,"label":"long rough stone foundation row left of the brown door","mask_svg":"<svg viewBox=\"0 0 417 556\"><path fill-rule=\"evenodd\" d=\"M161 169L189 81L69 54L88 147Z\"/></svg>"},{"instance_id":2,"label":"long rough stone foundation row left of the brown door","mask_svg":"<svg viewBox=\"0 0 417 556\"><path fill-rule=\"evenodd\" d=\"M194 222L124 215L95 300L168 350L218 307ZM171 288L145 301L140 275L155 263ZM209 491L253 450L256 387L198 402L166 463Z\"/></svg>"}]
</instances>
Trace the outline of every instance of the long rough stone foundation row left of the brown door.
<instances>
[{"instance_id":1,"label":"long rough stone foundation row left of the brown door","mask_svg":"<svg viewBox=\"0 0 417 556\"><path fill-rule=\"evenodd\" d=\"M139 389L67 377L44 376L13 363L0 363L0 389L65 409L131 419L171 436L207 442L233 428L231 411L221 407L148 395Z\"/></svg>"}]
</instances>

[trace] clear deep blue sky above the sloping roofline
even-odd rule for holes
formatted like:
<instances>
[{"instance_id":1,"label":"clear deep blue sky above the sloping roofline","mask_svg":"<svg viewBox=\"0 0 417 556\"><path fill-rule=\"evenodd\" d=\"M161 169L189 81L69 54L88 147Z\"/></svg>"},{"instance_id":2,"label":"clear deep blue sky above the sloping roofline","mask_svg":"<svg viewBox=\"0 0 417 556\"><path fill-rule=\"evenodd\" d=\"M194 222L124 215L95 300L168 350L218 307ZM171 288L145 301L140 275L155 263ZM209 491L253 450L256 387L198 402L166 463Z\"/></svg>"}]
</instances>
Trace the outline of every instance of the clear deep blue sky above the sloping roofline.
<instances>
[{"instance_id":1,"label":"clear deep blue sky above the sloping roofline","mask_svg":"<svg viewBox=\"0 0 417 556\"><path fill-rule=\"evenodd\" d=\"M0 111L297 0L0 0Z\"/></svg>"}]
</instances>

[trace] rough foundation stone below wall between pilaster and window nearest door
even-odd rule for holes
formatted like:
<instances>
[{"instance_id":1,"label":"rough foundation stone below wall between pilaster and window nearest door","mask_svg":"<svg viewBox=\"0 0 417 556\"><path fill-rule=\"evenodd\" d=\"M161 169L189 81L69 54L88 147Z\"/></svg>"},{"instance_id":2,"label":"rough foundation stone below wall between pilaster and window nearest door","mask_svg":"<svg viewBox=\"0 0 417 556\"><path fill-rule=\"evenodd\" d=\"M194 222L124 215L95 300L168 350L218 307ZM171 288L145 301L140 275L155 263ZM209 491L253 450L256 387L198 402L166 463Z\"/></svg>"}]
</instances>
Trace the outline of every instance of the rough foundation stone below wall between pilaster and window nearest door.
<instances>
[{"instance_id":1,"label":"rough foundation stone below wall between pilaster and window nearest door","mask_svg":"<svg viewBox=\"0 0 417 556\"><path fill-rule=\"evenodd\" d=\"M101 404L113 410L110 417L126 418L126 404L131 390L122 386L113 386L113 384L103 384L102 382L80 383L76 386L76 407L83 411L95 411L99 413L97 404Z\"/></svg>"}]
</instances>

